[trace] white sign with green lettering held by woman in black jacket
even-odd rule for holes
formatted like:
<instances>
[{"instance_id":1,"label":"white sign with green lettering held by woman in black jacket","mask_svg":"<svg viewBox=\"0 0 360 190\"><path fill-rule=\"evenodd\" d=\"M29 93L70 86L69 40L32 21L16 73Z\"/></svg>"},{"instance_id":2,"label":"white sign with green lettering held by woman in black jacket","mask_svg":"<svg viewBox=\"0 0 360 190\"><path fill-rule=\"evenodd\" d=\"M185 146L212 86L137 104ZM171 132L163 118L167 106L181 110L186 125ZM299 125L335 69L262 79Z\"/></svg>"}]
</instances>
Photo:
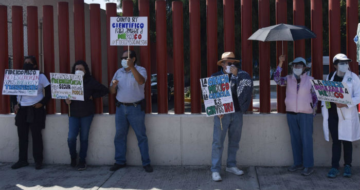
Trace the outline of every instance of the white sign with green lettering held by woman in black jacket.
<instances>
[{"instance_id":1,"label":"white sign with green lettering held by woman in black jacket","mask_svg":"<svg viewBox=\"0 0 360 190\"><path fill-rule=\"evenodd\" d=\"M53 99L84 100L84 87L80 74L50 73Z\"/></svg>"}]
</instances>

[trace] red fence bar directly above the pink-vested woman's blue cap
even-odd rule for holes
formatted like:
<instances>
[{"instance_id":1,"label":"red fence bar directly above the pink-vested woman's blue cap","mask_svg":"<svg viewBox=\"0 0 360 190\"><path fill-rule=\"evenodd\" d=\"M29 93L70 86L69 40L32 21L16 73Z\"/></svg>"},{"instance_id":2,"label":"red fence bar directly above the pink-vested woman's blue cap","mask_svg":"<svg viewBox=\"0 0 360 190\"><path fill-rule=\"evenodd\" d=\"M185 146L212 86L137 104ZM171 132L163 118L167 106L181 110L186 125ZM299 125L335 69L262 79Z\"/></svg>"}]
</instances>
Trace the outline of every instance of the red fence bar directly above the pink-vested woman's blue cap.
<instances>
[{"instance_id":1,"label":"red fence bar directly above the pink-vested woman's blue cap","mask_svg":"<svg viewBox=\"0 0 360 190\"><path fill-rule=\"evenodd\" d=\"M305 25L305 2L304 0L293 1L294 25ZM305 40L294 41L294 58L305 58Z\"/></svg>"}]
</instances>

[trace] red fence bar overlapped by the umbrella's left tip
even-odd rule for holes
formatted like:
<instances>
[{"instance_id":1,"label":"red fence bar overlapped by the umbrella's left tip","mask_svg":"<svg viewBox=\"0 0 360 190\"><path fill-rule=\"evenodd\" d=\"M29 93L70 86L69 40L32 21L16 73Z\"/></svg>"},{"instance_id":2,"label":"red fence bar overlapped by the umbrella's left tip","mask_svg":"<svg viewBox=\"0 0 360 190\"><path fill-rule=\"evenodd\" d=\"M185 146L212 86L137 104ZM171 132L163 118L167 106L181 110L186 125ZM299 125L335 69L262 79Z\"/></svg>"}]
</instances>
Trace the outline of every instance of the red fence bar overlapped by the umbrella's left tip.
<instances>
[{"instance_id":1,"label":"red fence bar overlapped by the umbrella's left tip","mask_svg":"<svg viewBox=\"0 0 360 190\"><path fill-rule=\"evenodd\" d=\"M252 13L253 7L251 1L241 0L241 66L242 70L249 73L250 77L253 77L253 42L247 40L253 31ZM248 111L253 111L253 100L248 107Z\"/></svg>"}]
</instances>

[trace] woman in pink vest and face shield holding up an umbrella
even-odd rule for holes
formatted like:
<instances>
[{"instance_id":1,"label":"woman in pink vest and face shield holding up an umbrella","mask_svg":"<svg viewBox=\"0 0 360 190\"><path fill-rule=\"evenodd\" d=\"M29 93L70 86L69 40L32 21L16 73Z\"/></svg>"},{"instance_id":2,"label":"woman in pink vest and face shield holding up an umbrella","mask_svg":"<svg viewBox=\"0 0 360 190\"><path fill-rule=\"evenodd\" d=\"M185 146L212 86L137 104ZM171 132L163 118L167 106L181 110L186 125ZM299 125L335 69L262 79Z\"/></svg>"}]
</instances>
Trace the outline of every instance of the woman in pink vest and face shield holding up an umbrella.
<instances>
[{"instance_id":1,"label":"woman in pink vest and face shield holding up an umbrella","mask_svg":"<svg viewBox=\"0 0 360 190\"><path fill-rule=\"evenodd\" d=\"M286 86L286 118L294 158L294 164L287 170L294 172L301 169L301 175L308 176L314 172L313 117L316 115L317 98L310 83L314 78L304 71L306 61L300 57L290 63L293 73L280 77L284 61L285 56L280 55L274 80L278 85Z\"/></svg>"}]
</instances>

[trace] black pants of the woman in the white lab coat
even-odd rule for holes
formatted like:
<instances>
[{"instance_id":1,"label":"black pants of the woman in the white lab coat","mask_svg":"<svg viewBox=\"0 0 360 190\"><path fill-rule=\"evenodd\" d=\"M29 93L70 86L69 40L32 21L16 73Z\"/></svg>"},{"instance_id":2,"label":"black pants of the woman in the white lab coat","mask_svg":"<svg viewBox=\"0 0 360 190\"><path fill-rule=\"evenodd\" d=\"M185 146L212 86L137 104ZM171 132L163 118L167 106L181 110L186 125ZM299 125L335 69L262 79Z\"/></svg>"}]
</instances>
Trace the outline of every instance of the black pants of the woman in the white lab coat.
<instances>
[{"instance_id":1,"label":"black pants of the woman in the white lab coat","mask_svg":"<svg viewBox=\"0 0 360 190\"><path fill-rule=\"evenodd\" d=\"M332 158L331 158L331 166L333 168L339 168L339 161L341 158L341 143L344 146L344 165L350 165L352 161L352 142L339 140L338 135L338 122L339 118L337 114L329 115L329 131L331 134L331 138L333 139L333 147L332 147Z\"/></svg>"}]
</instances>

